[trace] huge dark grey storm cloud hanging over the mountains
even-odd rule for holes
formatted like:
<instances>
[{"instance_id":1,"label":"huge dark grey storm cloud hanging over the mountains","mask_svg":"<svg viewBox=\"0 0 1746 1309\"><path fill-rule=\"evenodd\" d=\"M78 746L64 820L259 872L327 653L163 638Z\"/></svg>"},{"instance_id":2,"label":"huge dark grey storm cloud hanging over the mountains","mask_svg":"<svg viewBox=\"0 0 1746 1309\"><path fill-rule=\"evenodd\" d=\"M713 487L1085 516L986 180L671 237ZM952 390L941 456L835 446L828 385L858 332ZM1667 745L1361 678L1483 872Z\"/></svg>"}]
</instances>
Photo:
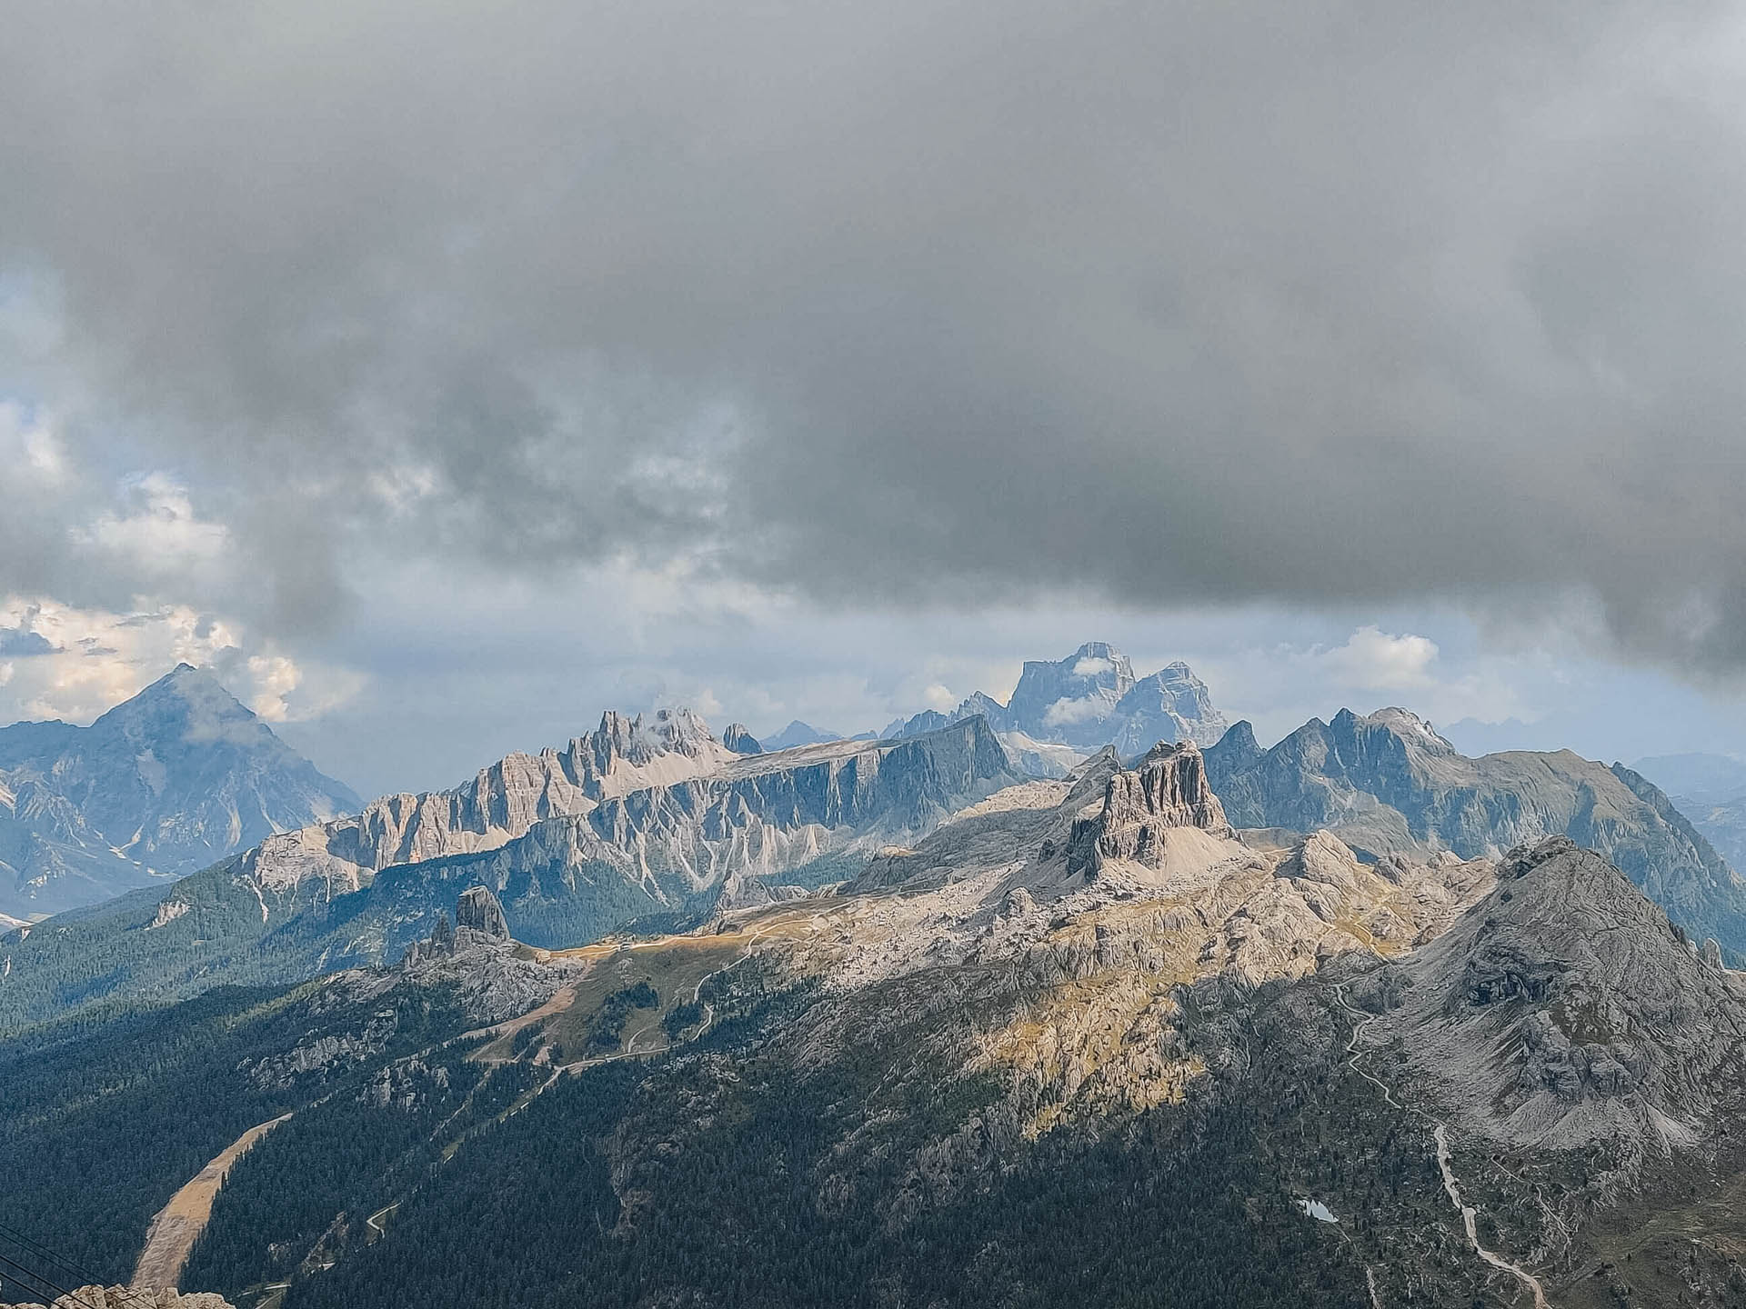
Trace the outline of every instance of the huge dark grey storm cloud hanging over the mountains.
<instances>
[{"instance_id":1,"label":"huge dark grey storm cloud hanging over the mountains","mask_svg":"<svg viewBox=\"0 0 1746 1309\"><path fill-rule=\"evenodd\" d=\"M1575 590L1746 656L1729 10L9 24L0 258L281 620L365 532L856 602Z\"/></svg>"}]
</instances>

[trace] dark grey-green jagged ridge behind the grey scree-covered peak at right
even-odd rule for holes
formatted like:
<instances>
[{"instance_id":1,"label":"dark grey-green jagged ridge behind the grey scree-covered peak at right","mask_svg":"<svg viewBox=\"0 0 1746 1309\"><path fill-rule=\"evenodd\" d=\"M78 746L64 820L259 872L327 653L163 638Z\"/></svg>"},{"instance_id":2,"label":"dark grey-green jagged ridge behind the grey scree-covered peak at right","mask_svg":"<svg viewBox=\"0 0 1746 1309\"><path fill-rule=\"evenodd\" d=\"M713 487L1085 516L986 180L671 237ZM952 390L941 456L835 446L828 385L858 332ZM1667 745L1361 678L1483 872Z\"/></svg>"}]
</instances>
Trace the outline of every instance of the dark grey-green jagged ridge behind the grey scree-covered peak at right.
<instances>
[{"instance_id":1,"label":"dark grey-green jagged ridge behind the grey scree-covered peak at right","mask_svg":"<svg viewBox=\"0 0 1746 1309\"><path fill-rule=\"evenodd\" d=\"M1271 749L1248 723L1206 750L1238 827L1329 829L1372 855L1498 859L1570 836L1615 862L1692 935L1746 951L1746 883L1650 782L1571 750L1470 759L1418 716L1311 719Z\"/></svg>"}]
</instances>

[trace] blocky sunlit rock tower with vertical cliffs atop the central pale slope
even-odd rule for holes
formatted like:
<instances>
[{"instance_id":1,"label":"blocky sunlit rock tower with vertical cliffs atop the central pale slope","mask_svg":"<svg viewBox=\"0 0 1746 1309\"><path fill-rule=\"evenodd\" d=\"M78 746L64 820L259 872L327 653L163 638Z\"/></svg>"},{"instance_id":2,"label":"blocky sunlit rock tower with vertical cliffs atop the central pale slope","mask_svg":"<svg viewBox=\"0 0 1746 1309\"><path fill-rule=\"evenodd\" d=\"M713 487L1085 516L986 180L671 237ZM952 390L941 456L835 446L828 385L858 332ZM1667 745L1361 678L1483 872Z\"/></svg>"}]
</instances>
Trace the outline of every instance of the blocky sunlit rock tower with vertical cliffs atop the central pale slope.
<instances>
[{"instance_id":1,"label":"blocky sunlit rock tower with vertical cliffs atop the central pale slope","mask_svg":"<svg viewBox=\"0 0 1746 1309\"><path fill-rule=\"evenodd\" d=\"M1236 836L1193 742L1159 742L1137 770L1123 768L1109 777L1098 815L1074 822L1069 873L1096 876L1110 859L1156 867L1165 834L1173 827L1194 827L1226 840Z\"/></svg>"}]
</instances>

